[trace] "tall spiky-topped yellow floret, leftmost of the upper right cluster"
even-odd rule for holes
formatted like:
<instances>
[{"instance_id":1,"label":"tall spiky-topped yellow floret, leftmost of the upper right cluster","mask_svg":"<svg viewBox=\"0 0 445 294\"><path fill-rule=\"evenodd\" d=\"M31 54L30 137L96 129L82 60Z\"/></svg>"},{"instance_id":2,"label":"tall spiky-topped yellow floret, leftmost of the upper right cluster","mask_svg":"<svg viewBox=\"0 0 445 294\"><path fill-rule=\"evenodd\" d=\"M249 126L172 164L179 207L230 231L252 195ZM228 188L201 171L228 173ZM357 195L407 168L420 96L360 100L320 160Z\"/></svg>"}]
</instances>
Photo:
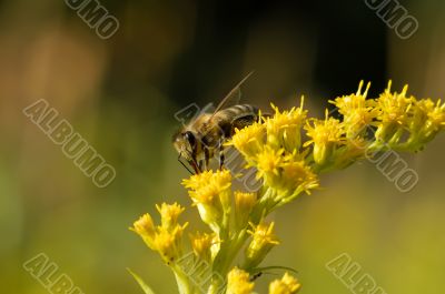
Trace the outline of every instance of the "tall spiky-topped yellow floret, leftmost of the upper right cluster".
<instances>
[{"instance_id":1,"label":"tall spiky-topped yellow floret, leftmost of the upper right cluster","mask_svg":"<svg viewBox=\"0 0 445 294\"><path fill-rule=\"evenodd\" d=\"M378 115L378 110L373 107L373 100L367 100L370 82L366 90L362 93L363 81L358 85L355 94L344 95L329 101L338 108L338 112L343 114L346 138L354 139L366 132L367 126L374 125L374 119Z\"/></svg>"}]
</instances>

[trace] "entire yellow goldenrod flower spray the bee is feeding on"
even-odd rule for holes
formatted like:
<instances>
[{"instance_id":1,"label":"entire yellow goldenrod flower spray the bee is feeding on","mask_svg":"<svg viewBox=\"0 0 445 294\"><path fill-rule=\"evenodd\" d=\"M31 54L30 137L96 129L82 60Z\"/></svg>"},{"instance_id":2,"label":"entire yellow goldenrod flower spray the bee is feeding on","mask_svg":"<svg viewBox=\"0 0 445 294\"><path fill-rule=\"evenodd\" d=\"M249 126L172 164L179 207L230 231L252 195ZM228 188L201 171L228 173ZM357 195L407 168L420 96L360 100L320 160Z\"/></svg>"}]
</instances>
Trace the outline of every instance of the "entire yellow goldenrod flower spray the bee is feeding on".
<instances>
[{"instance_id":1,"label":"entire yellow goldenrod flower spray the bee is feeding on","mask_svg":"<svg viewBox=\"0 0 445 294\"><path fill-rule=\"evenodd\" d=\"M324 119L308 118L301 99L298 108L288 111L273 104L271 115L259 114L258 122L236 130L227 145L243 154L243 172L247 168L256 170L261 183L258 191L233 191L234 176L225 169L182 181L210 230L190 234L192 268L181 267L178 262L185 252L182 232L187 224L178 224L184 207L176 203L157 206L159 226L148 214L135 222L132 230L174 270L180 293L253 293L258 273L283 268L259 267L279 244L275 223L267 220L270 212L317 189L323 172L344 169L385 149L417 151L445 129L445 104L441 101L408 97L407 87L400 93L392 92L390 82L378 98L370 99L370 83L364 91L363 85L360 82L356 93L329 101L339 118L327 110ZM197 270L202 267L200 262L208 277ZM297 280L287 273L269 284L270 294L291 294L299 288Z\"/></svg>"}]
</instances>

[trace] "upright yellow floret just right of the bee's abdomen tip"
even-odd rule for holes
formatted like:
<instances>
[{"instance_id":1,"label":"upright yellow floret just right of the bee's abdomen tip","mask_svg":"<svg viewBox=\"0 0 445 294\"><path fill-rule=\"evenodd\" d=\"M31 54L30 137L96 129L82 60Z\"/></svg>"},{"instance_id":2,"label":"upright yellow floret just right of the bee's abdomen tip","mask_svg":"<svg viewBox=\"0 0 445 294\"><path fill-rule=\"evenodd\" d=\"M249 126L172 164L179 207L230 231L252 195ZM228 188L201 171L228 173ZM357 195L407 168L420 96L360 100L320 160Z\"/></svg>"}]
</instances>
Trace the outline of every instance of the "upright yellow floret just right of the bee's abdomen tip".
<instances>
[{"instance_id":1,"label":"upright yellow floret just right of the bee's abdomen tip","mask_svg":"<svg viewBox=\"0 0 445 294\"><path fill-rule=\"evenodd\" d=\"M288 152L299 150L301 146L300 130L305 123L307 110L303 109L304 98L299 108L279 112L279 109L271 104L275 110L273 118L267 118L265 124L267 130L267 143L276 149L284 148Z\"/></svg>"}]
</instances>

